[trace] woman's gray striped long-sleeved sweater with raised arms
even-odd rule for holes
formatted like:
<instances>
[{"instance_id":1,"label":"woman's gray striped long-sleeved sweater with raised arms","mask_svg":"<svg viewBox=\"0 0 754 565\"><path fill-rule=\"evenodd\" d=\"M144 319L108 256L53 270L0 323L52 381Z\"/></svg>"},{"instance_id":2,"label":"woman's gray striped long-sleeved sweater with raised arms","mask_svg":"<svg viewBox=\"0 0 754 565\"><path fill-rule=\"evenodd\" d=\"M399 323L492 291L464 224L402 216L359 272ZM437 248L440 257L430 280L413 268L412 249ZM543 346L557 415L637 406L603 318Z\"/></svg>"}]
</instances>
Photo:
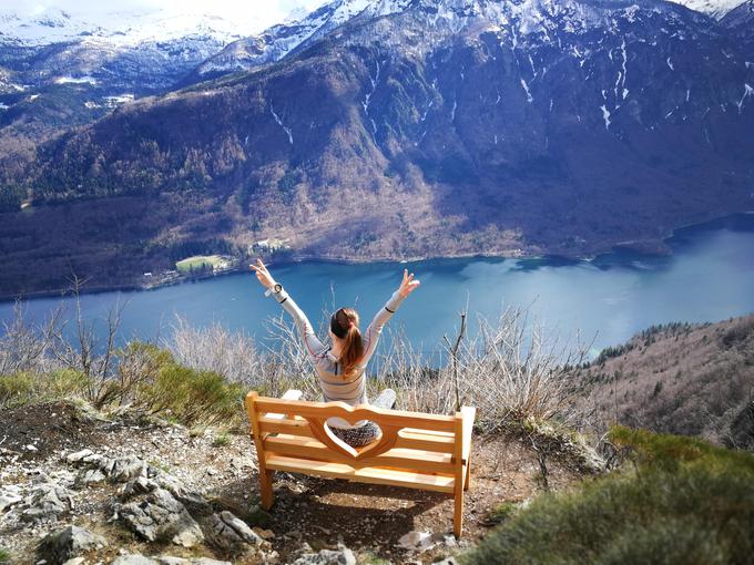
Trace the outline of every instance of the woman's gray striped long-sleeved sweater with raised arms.
<instances>
[{"instance_id":1,"label":"woman's gray striped long-sleeved sweater with raised arms","mask_svg":"<svg viewBox=\"0 0 754 565\"><path fill-rule=\"evenodd\" d=\"M340 372L338 360L330 352L330 346L326 346L319 341L314 333L314 328L308 318L285 289L279 292L273 292L273 296L281 306L283 306L285 311L293 317L294 322L302 335L306 351L319 377L319 387L322 388L325 402L338 400L350 405L368 403L365 369L375 352L377 341L379 341L379 336L383 332L383 327L387 320L393 317L400 306L400 302L404 301L404 297L396 290L387 304L375 315L371 323L369 323L367 330L361 335L361 339L364 340L364 357L357 366L357 371L355 374L345 378ZM339 418L330 418L327 423L333 428L353 428L348 422ZM357 422L356 427L363 424L363 421Z\"/></svg>"}]
</instances>

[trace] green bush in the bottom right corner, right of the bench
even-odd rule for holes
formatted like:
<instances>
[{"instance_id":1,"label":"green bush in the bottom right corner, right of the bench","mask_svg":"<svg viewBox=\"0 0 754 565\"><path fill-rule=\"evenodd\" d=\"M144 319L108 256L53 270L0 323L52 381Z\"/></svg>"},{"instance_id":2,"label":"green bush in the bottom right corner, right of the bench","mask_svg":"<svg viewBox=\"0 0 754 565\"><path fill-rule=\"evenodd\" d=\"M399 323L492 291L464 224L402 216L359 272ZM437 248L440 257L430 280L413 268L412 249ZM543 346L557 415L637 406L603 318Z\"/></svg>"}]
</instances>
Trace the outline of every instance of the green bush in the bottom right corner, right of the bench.
<instances>
[{"instance_id":1,"label":"green bush in the bottom right corner, right of the bench","mask_svg":"<svg viewBox=\"0 0 754 565\"><path fill-rule=\"evenodd\" d=\"M612 439L635 465L538 497L462 563L754 562L753 455L625 428Z\"/></svg>"}]
</instances>

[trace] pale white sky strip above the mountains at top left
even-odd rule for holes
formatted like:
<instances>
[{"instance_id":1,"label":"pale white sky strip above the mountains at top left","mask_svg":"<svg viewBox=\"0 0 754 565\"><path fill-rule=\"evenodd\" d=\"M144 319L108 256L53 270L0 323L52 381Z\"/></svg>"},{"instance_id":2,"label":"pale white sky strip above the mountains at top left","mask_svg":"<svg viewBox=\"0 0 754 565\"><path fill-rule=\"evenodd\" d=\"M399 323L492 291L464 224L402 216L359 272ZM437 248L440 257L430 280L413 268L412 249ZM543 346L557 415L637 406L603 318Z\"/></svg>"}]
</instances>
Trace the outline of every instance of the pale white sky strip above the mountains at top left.
<instances>
[{"instance_id":1,"label":"pale white sky strip above the mountains at top left","mask_svg":"<svg viewBox=\"0 0 754 565\"><path fill-rule=\"evenodd\" d=\"M77 16L121 11L156 11L170 14L205 13L231 21L254 22L259 30L279 23L294 10L310 11L325 0L0 0L0 12L34 16L58 8Z\"/></svg>"}]
</instances>

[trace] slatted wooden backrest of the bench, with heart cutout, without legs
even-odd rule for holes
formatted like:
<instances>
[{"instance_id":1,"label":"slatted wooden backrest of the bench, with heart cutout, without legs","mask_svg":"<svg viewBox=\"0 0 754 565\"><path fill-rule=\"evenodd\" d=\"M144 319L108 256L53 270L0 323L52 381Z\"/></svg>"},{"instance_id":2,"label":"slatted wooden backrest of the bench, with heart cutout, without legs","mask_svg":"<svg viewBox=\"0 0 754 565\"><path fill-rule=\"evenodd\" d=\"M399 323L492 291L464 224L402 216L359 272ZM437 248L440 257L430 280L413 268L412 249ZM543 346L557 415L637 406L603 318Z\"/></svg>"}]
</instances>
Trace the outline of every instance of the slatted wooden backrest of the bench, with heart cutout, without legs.
<instances>
[{"instance_id":1,"label":"slatted wooden backrest of the bench, with heart cutout, without legs","mask_svg":"<svg viewBox=\"0 0 754 565\"><path fill-rule=\"evenodd\" d=\"M346 463L354 469L367 466L420 469L425 473L458 473L462 419L456 415L386 410L344 402L307 402L246 397L249 422L257 449L288 458ZM327 428L329 418L350 423L375 422L381 436L364 448L351 448Z\"/></svg>"}]
</instances>

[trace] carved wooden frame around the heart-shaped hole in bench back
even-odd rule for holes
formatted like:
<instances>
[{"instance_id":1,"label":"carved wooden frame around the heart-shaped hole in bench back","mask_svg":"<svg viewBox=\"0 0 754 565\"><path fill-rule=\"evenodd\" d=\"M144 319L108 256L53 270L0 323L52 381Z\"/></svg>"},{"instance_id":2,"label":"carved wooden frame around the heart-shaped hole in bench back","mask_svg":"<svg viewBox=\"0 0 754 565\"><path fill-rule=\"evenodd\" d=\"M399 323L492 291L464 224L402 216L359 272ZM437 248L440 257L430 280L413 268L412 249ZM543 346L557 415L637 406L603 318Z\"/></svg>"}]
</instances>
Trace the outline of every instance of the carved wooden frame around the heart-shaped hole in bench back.
<instances>
[{"instance_id":1,"label":"carved wooden frame around the heart-shaped hole in bench back","mask_svg":"<svg viewBox=\"0 0 754 565\"><path fill-rule=\"evenodd\" d=\"M338 413L332 413L327 418L322 419L313 417L304 418L309 422L313 435L320 443L327 445L327 448L333 450L335 453L339 453L355 461L359 461L366 460L368 458L376 458L377 455L393 449L396 441L398 440L398 432L403 429L403 427L385 424L380 425L378 422L375 421L374 418L375 415L377 414L369 413L368 411L361 409L355 409L353 411L342 409L338 410ZM377 428L379 428L381 433L371 443L368 443L360 448L351 448L342 439L333 434L329 427L327 425L327 420L329 420L330 418L339 418L342 420L347 421L350 425L355 425L357 422L364 420L369 420L370 422L374 422L375 425L377 425Z\"/></svg>"}]
</instances>

